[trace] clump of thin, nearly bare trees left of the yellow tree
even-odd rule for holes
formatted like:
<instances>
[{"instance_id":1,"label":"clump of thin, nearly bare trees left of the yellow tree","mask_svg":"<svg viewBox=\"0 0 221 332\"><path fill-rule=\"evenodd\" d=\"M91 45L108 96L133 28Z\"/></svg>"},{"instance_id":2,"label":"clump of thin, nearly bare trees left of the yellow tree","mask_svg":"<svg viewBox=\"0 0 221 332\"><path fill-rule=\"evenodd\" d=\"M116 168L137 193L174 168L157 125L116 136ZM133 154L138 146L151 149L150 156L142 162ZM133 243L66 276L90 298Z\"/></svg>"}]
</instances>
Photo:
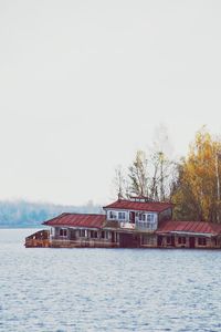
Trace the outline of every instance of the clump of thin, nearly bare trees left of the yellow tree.
<instances>
[{"instance_id":1,"label":"clump of thin, nearly bare trees left of the yellow tree","mask_svg":"<svg viewBox=\"0 0 221 332\"><path fill-rule=\"evenodd\" d=\"M148 153L137 151L128 167L128 176L122 166L115 169L115 194L126 198L136 195L155 201L169 200L176 174L175 163L169 157L171 151L167 127L160 125Z\"/></svg>"}]
</instances>

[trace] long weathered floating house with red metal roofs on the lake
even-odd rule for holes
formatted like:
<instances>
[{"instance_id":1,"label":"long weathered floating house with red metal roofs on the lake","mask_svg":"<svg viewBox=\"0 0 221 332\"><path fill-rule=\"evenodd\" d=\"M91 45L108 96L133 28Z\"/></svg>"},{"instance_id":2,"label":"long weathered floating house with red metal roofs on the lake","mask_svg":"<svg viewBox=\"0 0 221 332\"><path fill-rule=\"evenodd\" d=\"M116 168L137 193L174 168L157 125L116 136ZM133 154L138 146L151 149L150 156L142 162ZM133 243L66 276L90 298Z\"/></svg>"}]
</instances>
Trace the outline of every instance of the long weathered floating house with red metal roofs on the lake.
<instances>
[{"instance_id":1,"label":"long weathered floating house with red metal roofs on the lake","mask_svg":"<svg viewBox=\"0 0 221 332\"><path fill-rule=\"evenodd\" d=\"M173 221L172 204L146 197L118 199L102 215L62 214L44 221L49 230L25 239L27 247L221 248L221 225Z\"/></svg>"}]
</instances>

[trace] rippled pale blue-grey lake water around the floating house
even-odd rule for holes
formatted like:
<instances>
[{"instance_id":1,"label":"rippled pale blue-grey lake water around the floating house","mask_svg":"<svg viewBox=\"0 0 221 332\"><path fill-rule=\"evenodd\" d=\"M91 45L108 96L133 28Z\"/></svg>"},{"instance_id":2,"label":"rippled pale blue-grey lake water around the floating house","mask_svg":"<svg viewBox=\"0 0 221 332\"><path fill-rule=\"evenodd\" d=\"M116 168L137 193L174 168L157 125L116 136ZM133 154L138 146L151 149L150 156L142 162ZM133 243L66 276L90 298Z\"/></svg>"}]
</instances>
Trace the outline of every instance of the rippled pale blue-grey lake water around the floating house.
<instances>
[{"instance_id":1,"label":"rippled pale blue-grey lake water around the floating house","mask_svg":"<svg viewBox=\"0 0 221 332\"><path fill-rule=\"evenodd\" d=\"M221 251L25 249L0 230L0 331L221 331Z\"/></svg>"}]
</instances>

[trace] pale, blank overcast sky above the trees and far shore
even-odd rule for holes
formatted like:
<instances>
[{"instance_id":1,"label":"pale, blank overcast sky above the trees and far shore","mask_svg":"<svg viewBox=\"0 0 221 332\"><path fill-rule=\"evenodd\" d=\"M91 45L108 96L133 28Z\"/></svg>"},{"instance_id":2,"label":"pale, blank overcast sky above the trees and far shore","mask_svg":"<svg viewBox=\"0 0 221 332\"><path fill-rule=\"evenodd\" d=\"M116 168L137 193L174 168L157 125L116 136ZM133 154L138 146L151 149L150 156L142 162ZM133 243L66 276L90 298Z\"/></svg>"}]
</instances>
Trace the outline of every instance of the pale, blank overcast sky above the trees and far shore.
<instances>
[{"instance_id":1,"label":"pale, blank overcast sky above the trees and far shore","mask_svg":"<svg viewBox=\"0 0 221 332\"><path fill-rule=\"evenodd\" d=\"M221 1L0 0L0 199L106 204L165 124L221 133Z\"/></svg>"}]
</instances>

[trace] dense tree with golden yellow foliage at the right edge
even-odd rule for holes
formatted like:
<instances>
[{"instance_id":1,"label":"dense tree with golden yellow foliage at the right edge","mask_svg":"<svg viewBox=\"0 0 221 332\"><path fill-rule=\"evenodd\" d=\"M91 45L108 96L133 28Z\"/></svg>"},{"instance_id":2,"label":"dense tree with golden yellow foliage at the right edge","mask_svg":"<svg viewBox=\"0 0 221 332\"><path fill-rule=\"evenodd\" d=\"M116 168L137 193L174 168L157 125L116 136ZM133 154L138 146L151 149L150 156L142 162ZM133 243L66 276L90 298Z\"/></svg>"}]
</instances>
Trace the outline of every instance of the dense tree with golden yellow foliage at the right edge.
<instances>
[{"instance_id":1,"label":"dense tree with golden yellow foliage at the right edge","mask_svg":"<svg viewBox=\"0 0 221 332\"><path fill-rule=\"evenodd\" d=\"M178 165L178 174L172 193L175 218L221 222L221 141L212 139L202 127Z\"/></svg>"}]
</instances>

